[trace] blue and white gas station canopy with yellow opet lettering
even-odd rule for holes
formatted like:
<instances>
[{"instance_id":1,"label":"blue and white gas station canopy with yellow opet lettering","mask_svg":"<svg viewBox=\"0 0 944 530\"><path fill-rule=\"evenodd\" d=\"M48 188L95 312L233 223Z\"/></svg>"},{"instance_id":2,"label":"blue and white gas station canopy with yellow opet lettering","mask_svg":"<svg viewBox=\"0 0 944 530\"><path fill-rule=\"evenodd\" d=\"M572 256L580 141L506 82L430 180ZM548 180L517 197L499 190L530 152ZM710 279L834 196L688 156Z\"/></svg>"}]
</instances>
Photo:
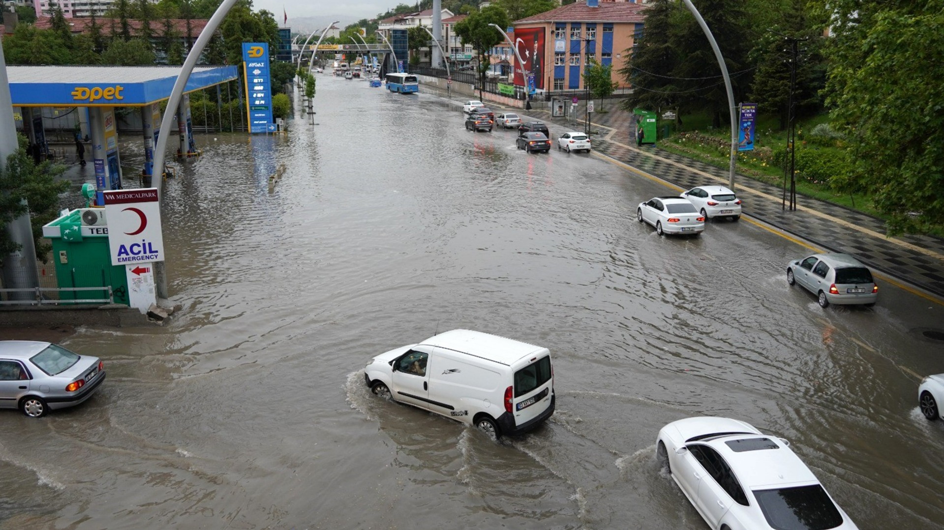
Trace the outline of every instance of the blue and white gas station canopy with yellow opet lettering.
<instances>
[{"instance_id":1,"label":"blue and white gas station canopy with yellow opet lettering","mask_svg":"<svg viewBox=\"0 0 944 530\"><path fill-rule=\"evenodd\" d=\"M179 66L7 66L13 107L143 107L170 97ZM238 78L235 66L197 66L185 92Z\"/></svg>"}]
</instances>

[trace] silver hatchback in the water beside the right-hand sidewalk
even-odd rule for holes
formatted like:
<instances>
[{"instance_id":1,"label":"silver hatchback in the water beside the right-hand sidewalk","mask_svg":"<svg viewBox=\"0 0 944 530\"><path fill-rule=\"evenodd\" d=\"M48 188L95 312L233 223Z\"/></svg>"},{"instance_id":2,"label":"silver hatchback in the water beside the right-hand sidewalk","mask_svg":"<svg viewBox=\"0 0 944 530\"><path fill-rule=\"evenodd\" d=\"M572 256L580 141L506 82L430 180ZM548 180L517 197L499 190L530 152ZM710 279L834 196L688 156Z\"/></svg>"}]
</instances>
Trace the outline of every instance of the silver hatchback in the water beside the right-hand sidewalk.
<instances>
[{"instance_id":1,"label":"silver hatchback in the water beside the right-hand sidewalk","mask_svg":"<svg viewBox=\"0 0 944 530\"><path fill-rule=\"evenodd\" d=\"M800 284L817 295L820 306L864 304L874 306L879 286L872 272L847 254L816 254L791 261L786 283Z\"/></svg>"}]
</instances>

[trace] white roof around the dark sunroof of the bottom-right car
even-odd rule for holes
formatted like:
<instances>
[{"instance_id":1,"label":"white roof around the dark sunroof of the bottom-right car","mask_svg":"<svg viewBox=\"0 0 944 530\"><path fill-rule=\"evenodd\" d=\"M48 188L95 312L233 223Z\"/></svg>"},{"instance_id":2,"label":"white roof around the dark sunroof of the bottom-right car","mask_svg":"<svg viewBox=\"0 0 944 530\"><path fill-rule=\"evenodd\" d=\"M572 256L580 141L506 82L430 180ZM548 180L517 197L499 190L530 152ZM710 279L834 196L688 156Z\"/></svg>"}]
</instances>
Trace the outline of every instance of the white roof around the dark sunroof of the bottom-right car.
<instances>
[{"instance_id":1,"label":"white roof around the dark sunroof of the bottom-right car","mask_svg":"<svg viewBox=\"0 0 944 530\"><path fill-rule=\"evenodd\" d=\"M742 439L767 439L777 449L734 451L728 442ZM708 439L704 443L721 455L741 485L748 489L763 489L785 485L818 484L819 481L806 464L781 440L767 435L729 435Z\"/></svg>"}]
</instances>

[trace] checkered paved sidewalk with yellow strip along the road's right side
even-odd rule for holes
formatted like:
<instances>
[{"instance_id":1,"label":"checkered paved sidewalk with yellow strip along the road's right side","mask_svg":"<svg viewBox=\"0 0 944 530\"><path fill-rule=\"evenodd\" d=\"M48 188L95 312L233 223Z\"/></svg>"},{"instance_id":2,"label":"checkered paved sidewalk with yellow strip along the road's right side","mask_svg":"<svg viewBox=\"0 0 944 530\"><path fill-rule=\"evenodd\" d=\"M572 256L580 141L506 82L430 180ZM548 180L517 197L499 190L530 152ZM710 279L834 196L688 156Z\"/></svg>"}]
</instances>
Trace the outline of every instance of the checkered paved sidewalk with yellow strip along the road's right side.
<instances>
[{"instance_id":1,"label":"checkered paved sidewalk with yellow strip along the road's right side","mask_svg":"<svg viewBox=\"0 0 944 530\"><path fill-rule=\"evenodd\" d=\"M594 149L683 189L717 182L727 185L729 174L655 146L636 147L630 112L607 105L608 112L593 114L597 134ZM548 124L573 128L566 118L551 118L548 110L527 111ZM582 120L578 121L583 124ZM905 283L944 298L944 240L929 236L885 237L885 223L864 213L798 195L798 209L785 210L784 190L750 177L735 175L744 213L816 243L830 252L851 254L862 262Z\"/></svg>"}]
</instances>

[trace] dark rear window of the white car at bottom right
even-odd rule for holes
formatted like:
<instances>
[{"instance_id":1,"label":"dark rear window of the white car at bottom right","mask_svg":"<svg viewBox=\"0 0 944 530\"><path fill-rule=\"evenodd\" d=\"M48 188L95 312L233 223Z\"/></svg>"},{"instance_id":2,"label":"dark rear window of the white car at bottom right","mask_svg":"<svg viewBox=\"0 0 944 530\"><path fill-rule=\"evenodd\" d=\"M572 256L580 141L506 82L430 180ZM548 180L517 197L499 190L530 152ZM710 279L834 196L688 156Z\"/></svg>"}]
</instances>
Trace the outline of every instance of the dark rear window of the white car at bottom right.
<instances>
[{"instance_id":1,"label":"dark rear window of the white car at bottom right","mask_svg":"<svg viewBox=\"0 0 944 530\"><path fill-rule=\"evenodd\" d=\"M842 524L842 515L818 484L799 488L754 490L771 528L827 530Z\"/></svg>"}]
</instances>

